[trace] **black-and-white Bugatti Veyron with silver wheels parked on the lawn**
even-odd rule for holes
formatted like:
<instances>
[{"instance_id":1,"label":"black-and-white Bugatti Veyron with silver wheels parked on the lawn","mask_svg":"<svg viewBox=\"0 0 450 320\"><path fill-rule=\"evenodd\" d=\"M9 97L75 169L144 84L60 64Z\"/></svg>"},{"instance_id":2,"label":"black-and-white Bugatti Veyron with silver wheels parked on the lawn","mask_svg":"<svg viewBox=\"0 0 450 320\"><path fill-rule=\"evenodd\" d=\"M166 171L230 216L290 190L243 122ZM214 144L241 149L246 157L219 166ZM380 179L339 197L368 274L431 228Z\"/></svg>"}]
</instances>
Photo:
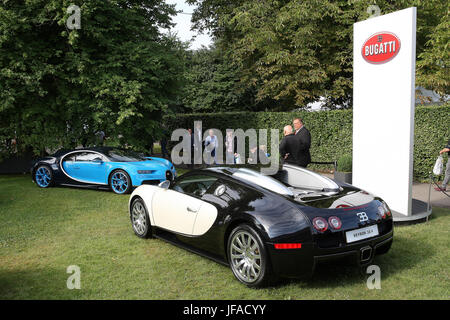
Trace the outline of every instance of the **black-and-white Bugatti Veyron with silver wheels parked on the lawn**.
<instances>
[{"instance_id":1,"label":"black-and-white Bugatti Veyron with silver wheels parked on the lawn","mask_svg":"<svg viewBox=\"0 0 450 320\"><path fill-rule=\"evenodd\" d=\"M392 215L382 199L293 165L273 176L248 167L193 170L138 187L129 214L137 236L230 266L250 287L309 276L329 258L369 264L393 241Z\"/></svg>"}]
</instances>

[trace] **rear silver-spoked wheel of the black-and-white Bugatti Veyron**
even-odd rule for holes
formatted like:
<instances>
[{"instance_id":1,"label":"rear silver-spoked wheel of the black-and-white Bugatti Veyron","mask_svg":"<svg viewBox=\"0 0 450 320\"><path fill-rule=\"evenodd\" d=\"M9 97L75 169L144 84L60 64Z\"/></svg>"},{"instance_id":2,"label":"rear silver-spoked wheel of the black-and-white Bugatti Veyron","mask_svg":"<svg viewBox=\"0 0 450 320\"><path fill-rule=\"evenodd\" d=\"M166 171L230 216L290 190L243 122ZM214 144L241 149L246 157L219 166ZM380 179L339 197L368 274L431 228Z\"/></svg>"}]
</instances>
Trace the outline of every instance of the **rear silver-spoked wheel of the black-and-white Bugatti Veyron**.
<instances>
[{"instance_id":1,"label":"rear silver-spoked wheel of the black-and-white Bugatti Veyron","mask_svg":"<svg viewBox=\"0 0 450 320\"><path fill-rule=\"evenodd\" d=\"M228 261L235 277L249 287L263 287L270 282L270 263L259 234L249 225L237 226L227 245Z\"/></svg>"}]
</instances>

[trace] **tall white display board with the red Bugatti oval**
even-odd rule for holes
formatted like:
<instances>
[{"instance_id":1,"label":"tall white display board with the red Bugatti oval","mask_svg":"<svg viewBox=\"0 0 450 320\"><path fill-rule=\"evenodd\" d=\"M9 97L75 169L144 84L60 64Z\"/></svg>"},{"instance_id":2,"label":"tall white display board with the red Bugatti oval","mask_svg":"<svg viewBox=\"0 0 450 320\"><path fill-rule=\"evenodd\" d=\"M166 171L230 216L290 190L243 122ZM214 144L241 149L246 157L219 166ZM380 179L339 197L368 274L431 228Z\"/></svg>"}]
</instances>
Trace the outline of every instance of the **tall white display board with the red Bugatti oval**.
<instances>
[{"instance_id":1,"label":"tall white display board with the red Bugatti oval","mask_svg":"<svg viewBox=\"0 0 450 320\"><path fill-rule=\"evenodd\" d=\"M416 8L353 27L353 184L409 216Z\"/></svg>"}]
</instances>

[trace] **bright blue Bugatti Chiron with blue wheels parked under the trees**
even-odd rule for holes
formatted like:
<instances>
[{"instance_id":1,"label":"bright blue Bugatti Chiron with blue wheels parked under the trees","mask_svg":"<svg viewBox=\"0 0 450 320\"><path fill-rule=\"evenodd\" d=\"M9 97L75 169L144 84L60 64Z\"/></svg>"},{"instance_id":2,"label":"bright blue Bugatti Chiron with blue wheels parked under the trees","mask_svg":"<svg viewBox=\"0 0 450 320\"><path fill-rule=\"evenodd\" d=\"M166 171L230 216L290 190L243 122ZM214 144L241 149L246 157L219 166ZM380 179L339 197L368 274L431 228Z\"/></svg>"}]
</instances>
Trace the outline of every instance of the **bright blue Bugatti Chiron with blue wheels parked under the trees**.
<instances>
[{"instance_id":1,"label":"bright blue Bugatti Chiron with blue wheels parked under the trees","mask_svg":"<svg viewBox=\"0 0 450 320\"><path fill-rule=\"evenodd\" d=\"M53 185L110 188L117 194L142 184L158 184L176 177L173 164L163 158L113 147L59 150L37 160L31 168L41 188Z\"/></svg>"}]
</instances>

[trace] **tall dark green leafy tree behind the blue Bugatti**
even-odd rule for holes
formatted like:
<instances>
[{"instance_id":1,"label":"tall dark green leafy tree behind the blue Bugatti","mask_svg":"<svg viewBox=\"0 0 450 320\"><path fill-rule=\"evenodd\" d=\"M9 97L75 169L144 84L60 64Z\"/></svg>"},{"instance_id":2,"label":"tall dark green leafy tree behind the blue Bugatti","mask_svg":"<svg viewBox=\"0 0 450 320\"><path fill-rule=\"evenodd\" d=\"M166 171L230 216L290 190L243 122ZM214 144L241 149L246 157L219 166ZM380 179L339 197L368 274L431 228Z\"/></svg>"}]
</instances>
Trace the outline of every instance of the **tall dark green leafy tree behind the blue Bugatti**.
<instances>
[{"instance_id":1,"label":"tall dark green leafy tree behind the blue Bugatti","mask_svg":"<svg viewBox=\"0 0 450 320\"><path fill-rule=\"evenodd\" d=\"M39 152L103 130L145 148L181 86L183 48L160 31L174 14L163 0L2 1L0 140Z\"/></svg>"}]
</instances>

